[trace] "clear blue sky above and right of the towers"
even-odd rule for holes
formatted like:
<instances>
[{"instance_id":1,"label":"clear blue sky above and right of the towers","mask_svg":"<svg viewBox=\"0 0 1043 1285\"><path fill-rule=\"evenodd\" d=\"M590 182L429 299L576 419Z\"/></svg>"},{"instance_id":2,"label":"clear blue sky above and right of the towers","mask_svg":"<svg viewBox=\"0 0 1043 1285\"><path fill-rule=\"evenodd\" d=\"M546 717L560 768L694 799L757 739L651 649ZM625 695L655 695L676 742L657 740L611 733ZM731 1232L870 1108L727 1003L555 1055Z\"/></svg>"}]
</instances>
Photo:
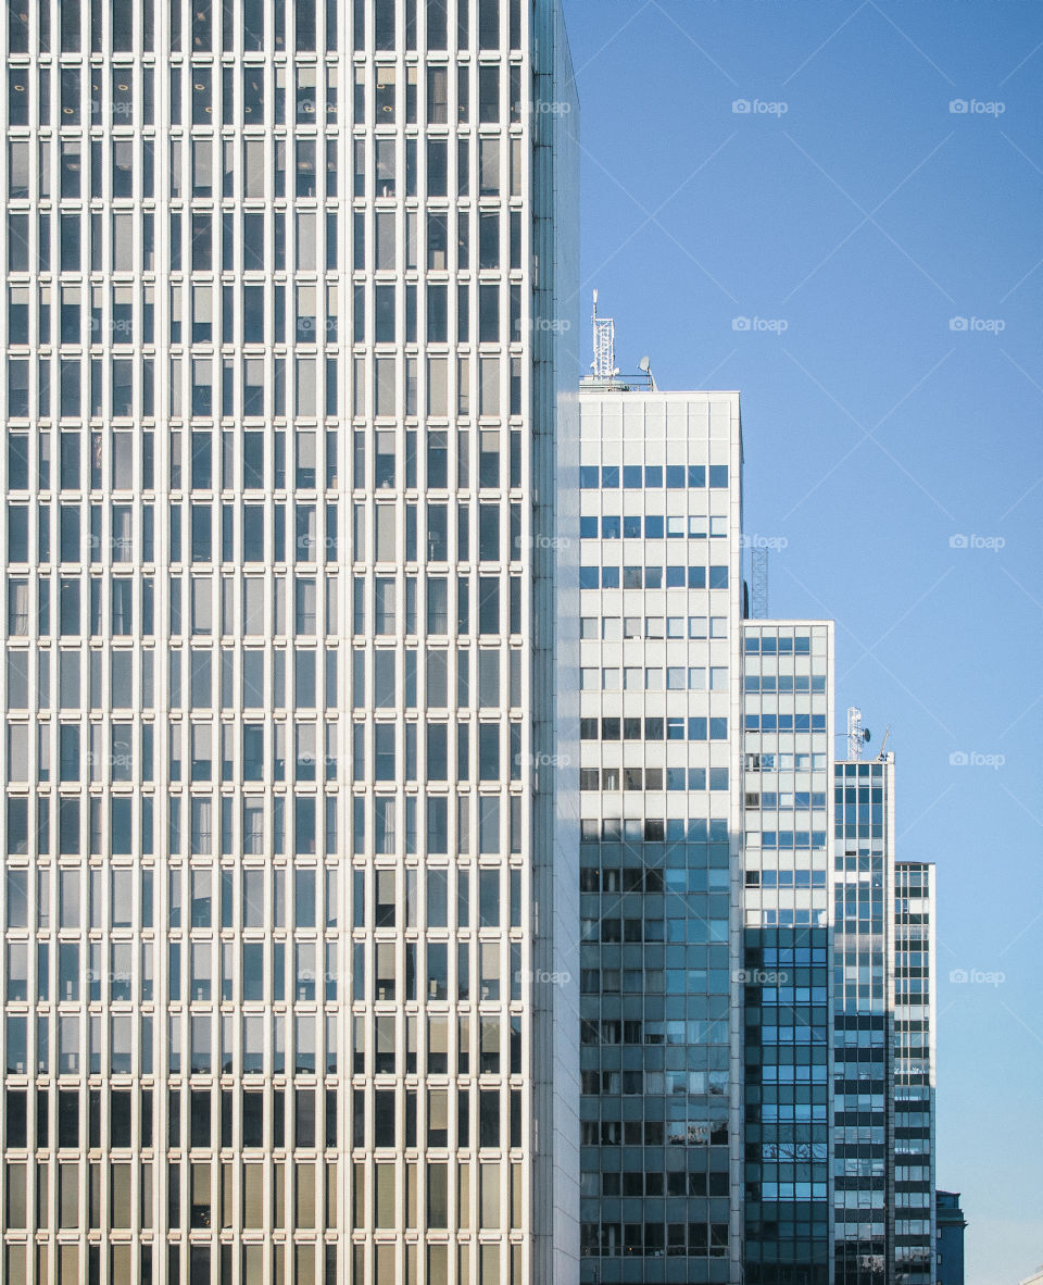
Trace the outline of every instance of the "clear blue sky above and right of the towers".
<instances>
[{"instance_id":1,"label":"clear blue sky above and right of the towers","mask_svg":"<svg viewBox=\"0 0 1043 1285\"><path fill-rule=\"evenodd\" d=\"M940 889L938 1181L968 1285L1016 1285L1043 1262L1043 6L565 13L581 312L597 285L624 370L741 391L771 613L835 618L840 717L893 725L899 855Z\"/></svg>"}]
</instances>

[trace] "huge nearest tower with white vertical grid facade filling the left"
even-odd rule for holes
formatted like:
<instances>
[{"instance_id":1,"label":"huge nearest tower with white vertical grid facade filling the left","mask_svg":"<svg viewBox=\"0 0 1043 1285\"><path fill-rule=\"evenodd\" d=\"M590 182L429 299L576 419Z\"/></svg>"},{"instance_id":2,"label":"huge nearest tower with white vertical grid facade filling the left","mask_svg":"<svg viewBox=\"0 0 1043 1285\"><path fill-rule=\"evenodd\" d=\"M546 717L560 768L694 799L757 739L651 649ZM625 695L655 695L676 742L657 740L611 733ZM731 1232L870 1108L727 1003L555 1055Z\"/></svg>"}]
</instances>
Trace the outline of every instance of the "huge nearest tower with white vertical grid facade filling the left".
<instances>
[{"instance_id":1,"label":"huge nearest tower with white vertical grid facade filling the left","mask_svg":"<svg viewBox=\"0 0 1043 1285\"><path fill-rule=\"evenodd\" d=\"M0 1277L566 1281L557 6L4 40Z\"/></svg>"}]
</instances>

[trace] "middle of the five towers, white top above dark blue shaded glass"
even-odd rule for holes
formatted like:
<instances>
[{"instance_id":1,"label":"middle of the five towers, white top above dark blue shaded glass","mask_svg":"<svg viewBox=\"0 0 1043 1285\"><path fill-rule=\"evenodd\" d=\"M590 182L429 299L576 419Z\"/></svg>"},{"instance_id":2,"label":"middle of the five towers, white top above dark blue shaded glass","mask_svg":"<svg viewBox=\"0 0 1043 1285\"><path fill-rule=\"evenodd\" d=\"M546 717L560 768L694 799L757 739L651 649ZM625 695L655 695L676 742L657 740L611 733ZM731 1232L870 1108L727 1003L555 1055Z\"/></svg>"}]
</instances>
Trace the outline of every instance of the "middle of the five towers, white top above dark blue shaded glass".
<instances>
[{"instance_id":1,"label":"middle of the five towers, white top above dark blue shaded glass","mask_svg":"<svg viewBox=\"0 0 1043 1285\"><path fill-rule=\"evenodd\" d=\"M746 1280L831 1268L832 625L744 625Z\"/></svg>"}]
</instances>

